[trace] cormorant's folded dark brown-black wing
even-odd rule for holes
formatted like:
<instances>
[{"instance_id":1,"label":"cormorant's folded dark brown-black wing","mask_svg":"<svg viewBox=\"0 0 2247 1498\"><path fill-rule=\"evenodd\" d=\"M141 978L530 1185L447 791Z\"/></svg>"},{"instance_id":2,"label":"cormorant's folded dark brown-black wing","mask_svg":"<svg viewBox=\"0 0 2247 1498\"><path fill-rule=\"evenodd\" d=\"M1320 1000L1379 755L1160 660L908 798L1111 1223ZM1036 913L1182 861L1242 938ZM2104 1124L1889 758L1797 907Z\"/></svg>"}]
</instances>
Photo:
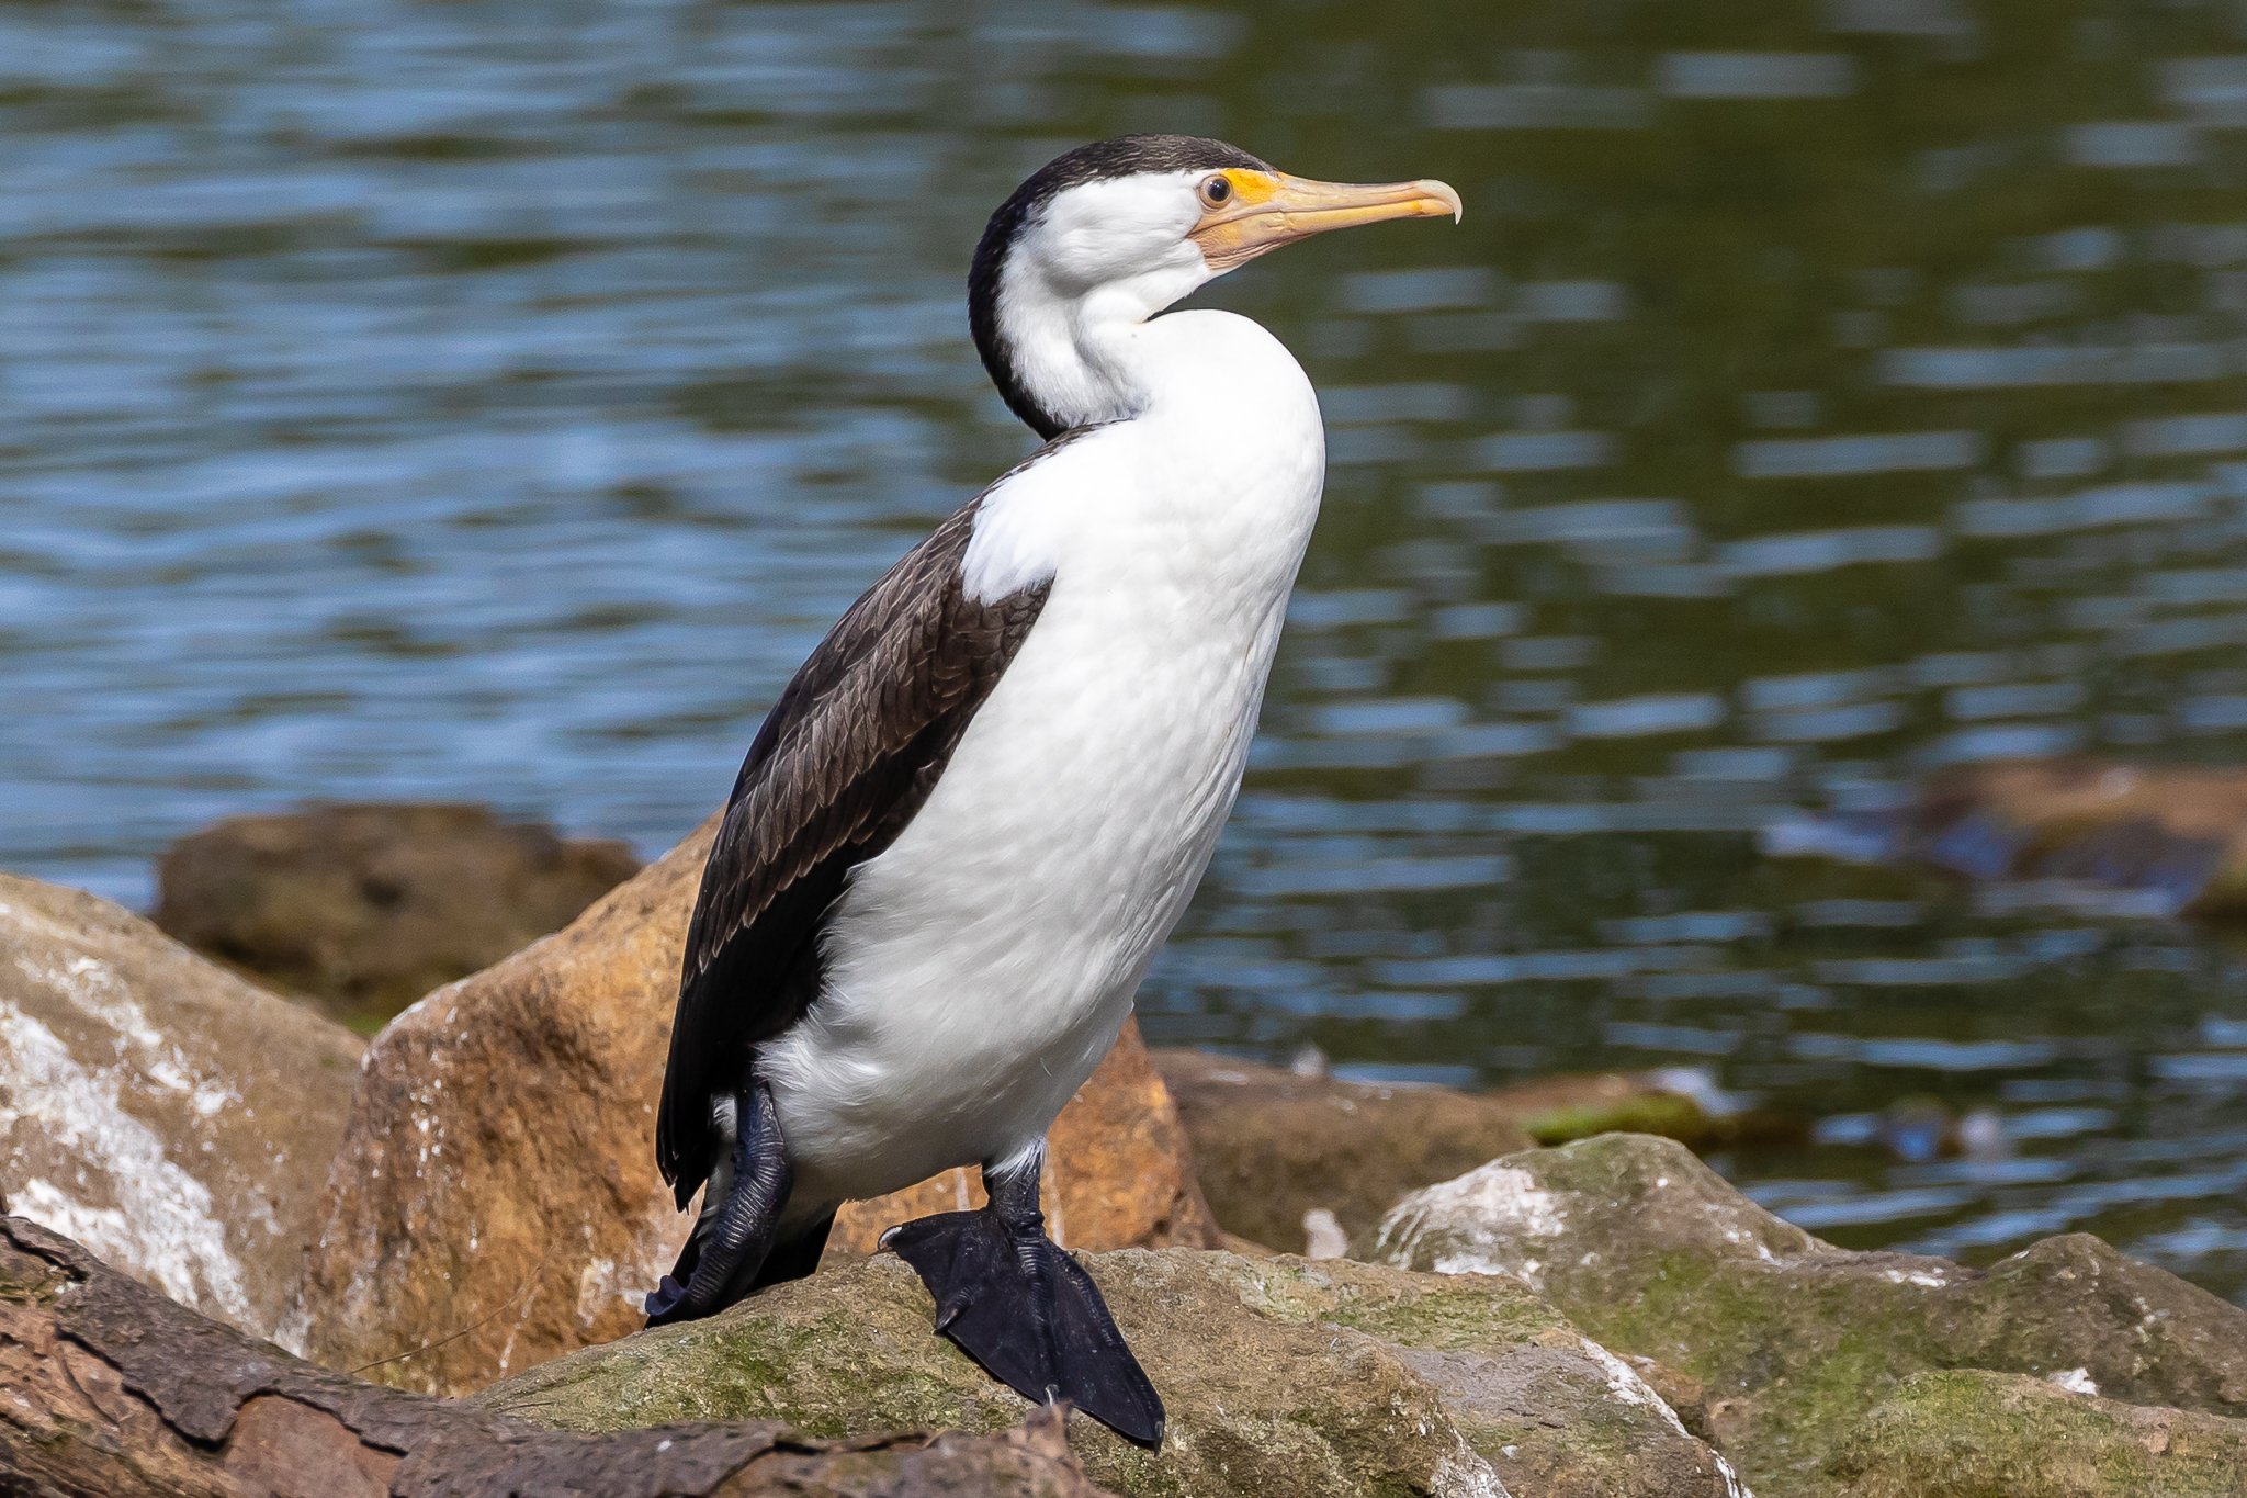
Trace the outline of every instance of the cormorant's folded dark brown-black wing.
<instances>
[{"instance_id":1,"label":"cormorant's folded dark brown-black wing","mask_svg":"<svg viewBox=\"0 0 2247 1498\"><path fill-rule=\"evenodd\" d=\"M818 930L852 865L890 847L928 800L975 710L1045 606L1049 584L995 604L959 564L977 501L946 519L820 640L757 730L703 867L663 1069L656 1166L679 1206L717 1159L710 1094L748 1047L818 997Z\"/></svg>"}]
</instances>

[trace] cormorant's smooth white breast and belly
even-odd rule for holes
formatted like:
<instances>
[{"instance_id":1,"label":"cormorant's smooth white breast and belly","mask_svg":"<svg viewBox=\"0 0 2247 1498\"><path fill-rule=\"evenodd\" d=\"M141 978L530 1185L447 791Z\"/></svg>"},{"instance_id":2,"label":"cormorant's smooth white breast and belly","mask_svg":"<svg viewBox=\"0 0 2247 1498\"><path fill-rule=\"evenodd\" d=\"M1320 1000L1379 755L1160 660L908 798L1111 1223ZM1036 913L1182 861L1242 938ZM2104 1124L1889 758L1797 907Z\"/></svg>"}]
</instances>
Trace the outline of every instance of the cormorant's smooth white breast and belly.
<instances>
[{"instance_id":1,"label":"cormorant's smooth white breast and belly","mask_svg":"<svg viewBox=\"0 0 2247 1498\"><path fill-rule=\"evenodd\" d=\"M984 499L971 591L1052 593L919 815L854 871L827 988L759 1062L807 1206L1034 1148L1231 811L1323 433L1256 323L1139 337L1162 400Z\"/></svg>"}]
</instances>

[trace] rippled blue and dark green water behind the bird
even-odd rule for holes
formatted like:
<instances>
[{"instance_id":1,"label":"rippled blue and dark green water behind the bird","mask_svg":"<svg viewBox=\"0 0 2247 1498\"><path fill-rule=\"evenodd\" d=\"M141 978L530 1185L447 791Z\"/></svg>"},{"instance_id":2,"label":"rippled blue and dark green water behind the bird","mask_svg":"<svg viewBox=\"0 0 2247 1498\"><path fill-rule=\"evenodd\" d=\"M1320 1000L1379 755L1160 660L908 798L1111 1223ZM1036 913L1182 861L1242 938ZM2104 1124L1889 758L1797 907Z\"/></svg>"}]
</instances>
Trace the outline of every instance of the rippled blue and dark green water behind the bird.
<instances>
[{"instance_id":1,"label":"rippled blue and dark green water behind the bird","mask_svg":"<svg viewBox=\"0 0 2247 1498\"><path fill-rule=\"evenodd\" d=\"M1027 449L959 283L1031 166L1440 175L1465 227L1211 292L1312 371L1332 478L1150 1038L1692 1067L1820 1121L1719 1163L1838 1242L2090 1228L2247 1296L2231 948L1795 856L1946 764L2247 757L2240 25L0 7L0 865L139 903L301 797L661 849Z\"/></svg>"}]
</instances>

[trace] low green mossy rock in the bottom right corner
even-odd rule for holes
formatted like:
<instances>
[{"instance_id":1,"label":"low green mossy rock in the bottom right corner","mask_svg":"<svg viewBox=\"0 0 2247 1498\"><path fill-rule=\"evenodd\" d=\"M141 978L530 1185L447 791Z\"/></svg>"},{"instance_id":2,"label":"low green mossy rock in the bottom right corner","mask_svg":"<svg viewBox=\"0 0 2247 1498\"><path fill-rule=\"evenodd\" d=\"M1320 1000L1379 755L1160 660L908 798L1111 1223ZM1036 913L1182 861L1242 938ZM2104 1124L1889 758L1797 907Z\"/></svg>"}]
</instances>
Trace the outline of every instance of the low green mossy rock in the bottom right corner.
<instances>
[{"instance_id":1,"label":"low green mossy rock in the bottom right corner","mask_svg":"<svg viewBox=\"0 0 2247 1498\"><path fill-rule=\"evenodd\" d=\"M2007 1372L1921 1372L1829 1462L1852 1498L2173 1498L2247 1491L2247 1422L2054 1388Z\"/></svg>"}]
</instances>

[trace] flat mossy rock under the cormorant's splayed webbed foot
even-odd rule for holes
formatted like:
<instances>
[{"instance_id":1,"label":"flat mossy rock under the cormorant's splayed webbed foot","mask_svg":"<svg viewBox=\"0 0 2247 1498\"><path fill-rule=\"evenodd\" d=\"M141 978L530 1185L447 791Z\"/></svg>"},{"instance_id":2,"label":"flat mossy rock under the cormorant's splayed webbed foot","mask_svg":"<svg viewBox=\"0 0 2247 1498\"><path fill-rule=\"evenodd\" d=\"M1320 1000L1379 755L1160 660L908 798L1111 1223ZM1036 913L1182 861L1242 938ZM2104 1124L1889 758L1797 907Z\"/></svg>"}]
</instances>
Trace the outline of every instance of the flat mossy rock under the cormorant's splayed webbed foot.
<instances>
[{"instance_id":1,"label":"flat mossy rock under the cormorant's splayed webbed foot","mask_svg":"<svg viewBox=\"0 0 2247 1498\"><path fill-rule=\"evenodd\" d=\"M1090 1478L1121 1494L1728 1494L1717 1455L1517 1280L1193 1249L1079 1262L1171 1415L1159 1453L1072 1422ZM813 1435L1018 1422L1029 1406L933 1321L919 1278L883 1253L533 1368L479 1404L566 1431L750 1413Z\"/></svg>"}]
</instances>

